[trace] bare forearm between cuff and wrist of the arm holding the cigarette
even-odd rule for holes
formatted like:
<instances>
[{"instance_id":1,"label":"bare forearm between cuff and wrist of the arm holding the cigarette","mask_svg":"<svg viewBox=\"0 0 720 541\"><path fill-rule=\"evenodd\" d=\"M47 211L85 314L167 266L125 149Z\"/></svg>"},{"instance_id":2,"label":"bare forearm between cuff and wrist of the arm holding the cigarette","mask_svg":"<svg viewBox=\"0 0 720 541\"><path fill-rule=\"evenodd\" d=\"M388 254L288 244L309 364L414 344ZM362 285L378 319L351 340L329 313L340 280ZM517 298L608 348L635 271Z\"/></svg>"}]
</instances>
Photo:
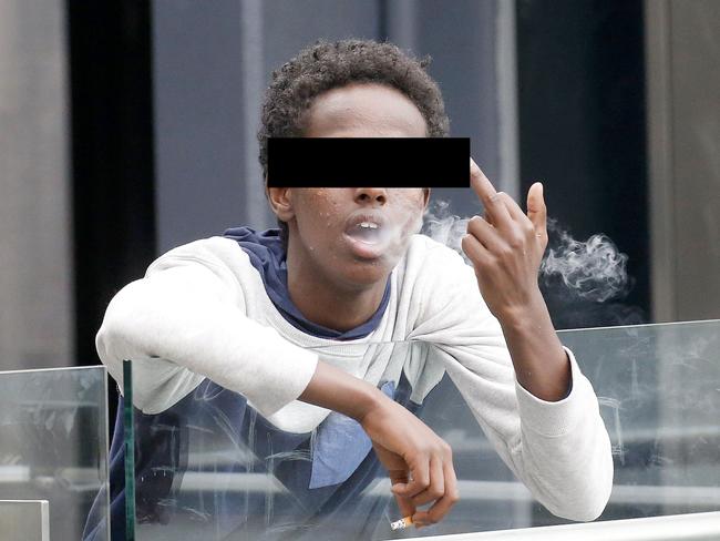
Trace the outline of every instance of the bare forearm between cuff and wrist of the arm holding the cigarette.
<instances>
[{"instance_id":1,"label":"bare forearm between cuff and wrist of the arm holding the cigarette","mask_svg":"<svg viewBox=\"0 0 720 541\"><path fill-rule=\"evenodd\" d=\"M388 397L371 384L320 359L298 400L339 411L360 421L382 400L388 400Z\"/></svg>"}]
</instances>

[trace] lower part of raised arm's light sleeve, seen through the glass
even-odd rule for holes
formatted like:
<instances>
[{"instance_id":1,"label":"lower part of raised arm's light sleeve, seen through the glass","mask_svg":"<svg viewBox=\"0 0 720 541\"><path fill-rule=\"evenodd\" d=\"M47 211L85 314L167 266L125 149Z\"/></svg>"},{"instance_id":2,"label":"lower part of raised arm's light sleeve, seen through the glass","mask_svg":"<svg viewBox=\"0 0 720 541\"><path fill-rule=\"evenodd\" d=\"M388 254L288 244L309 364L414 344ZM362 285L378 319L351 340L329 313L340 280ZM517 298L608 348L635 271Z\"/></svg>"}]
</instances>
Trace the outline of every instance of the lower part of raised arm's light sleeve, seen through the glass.
<instances>
[{"instance_id":1,"label":"lower part of raised arm's light sleeve, seen through the glass","mask_svg":"<svg viewBox=\"0 0 720 541\"><path fill-rule=\"evenodd\" d=\"M483 431L533 496L560 517L597 517L611 488L610 445L597 397L572 351L573 390L547 401L517 381L504 344L436 349Z\"/></svg>"}]
</instances>

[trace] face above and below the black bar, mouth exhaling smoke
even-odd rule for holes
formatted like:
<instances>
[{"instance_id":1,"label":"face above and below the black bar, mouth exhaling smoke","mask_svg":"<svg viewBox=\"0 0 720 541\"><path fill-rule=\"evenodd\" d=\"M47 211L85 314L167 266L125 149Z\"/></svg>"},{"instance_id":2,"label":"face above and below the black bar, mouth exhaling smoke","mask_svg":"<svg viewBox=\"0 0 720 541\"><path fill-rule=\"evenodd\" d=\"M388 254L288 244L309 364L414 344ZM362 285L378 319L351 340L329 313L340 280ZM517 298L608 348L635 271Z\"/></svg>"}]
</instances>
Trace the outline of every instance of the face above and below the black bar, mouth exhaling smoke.
<instances>
[{"instance_id":1,"label":"face above and below the black bar, mouth exhaling smoke","mask_svg":"<svg viewBox=\"0 0 720 541\"><path fill-rule=\"evenodd\" d=\"M424 137L425 121L400 91L376 83L332 89L308 113L308 137ZM371 182L371 180L368 180ZM284 190L284 188L275 188ZM387 278L422 226L430 188L285 188L289 249L325 278ZM276 210L276 213L278 211Z\"/></svg>"}]
</instances>

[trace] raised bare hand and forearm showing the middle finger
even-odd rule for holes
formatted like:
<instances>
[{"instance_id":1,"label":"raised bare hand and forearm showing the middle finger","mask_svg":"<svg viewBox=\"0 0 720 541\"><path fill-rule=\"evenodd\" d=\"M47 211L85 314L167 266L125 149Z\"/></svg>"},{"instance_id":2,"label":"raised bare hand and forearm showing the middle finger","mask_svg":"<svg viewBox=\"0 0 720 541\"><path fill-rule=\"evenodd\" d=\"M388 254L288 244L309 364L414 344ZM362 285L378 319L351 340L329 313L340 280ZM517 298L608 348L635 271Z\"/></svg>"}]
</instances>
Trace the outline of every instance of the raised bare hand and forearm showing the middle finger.
<instances>
[{"instance_id":1,"label":"raised bare hand and forearm showing the middle finger","mask_svg":"<svg viewBox=\"0 0 720 541\"><path fill-rule=\"evenodd\" d=\"M470 220L461 244L480 293L503 328L520 384L541 399L560 400L572 385L569 360L537 285L547 247L543 185L531 186L525 214L512 197L495 191L472 157L470 183L485 216Z\"/></svg>"}]
</instances>

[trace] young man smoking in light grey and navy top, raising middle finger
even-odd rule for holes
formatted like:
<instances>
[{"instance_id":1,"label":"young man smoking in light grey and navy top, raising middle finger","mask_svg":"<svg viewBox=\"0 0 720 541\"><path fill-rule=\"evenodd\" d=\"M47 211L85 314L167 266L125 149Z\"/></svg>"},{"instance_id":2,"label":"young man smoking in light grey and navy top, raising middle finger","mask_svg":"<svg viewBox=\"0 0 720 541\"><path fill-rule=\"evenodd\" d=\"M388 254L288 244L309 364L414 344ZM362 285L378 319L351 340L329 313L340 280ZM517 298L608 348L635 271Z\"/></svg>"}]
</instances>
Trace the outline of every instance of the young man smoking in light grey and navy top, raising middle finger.
<instances>
[{"instance_id":1,"label":"young man smoking in light grey and navy top, raising middle finger","mask_svg":"<svg viewBox=\"0 0 720 541\"><path fill-rule=\"evenodd\" d=\"M542 185L532 186L524 213L471 160L485 208L462 241L472 266L419 234L429 188L267 187L270 136L446 136L425 65L391 43L319 40L274 72L258 140L279 227L237 227L161 256L110 303L100 358L119 382L123 359L133 360L134 405L148 418L194 415L193 397L224 389L214 408L246 442L305 452L272 473L309 506L310 525L347 513L380 468L416 525L448 514L460 498L451 448L413 415L448 374L533 496L557 516L593 520L611 489L610 443L593 387L560 345L537 286L547 244ZM390 233L373 236L376 226ZM434 346L422 358L368 346L399 341ZM323 355L327 346L342 355ZM311 445L323 437L333 446ZM341 466L328 470L332 461ZM138 468L152 463L141 457ZM243 520L226 531L240 531ZM292 539L312 534L310 525Z\"/></svg>"}]
</instances>

